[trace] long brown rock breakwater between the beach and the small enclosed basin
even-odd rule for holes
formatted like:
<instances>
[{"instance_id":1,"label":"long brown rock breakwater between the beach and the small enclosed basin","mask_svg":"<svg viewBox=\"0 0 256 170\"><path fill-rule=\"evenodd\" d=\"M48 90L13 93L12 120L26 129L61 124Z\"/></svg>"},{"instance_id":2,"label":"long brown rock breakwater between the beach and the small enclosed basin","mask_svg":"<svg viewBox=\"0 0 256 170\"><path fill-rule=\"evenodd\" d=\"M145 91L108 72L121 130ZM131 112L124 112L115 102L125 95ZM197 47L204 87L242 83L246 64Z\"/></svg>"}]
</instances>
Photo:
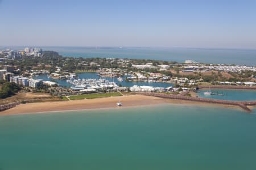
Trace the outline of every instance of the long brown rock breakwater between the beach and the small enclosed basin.
<instances>
[{"instance_id":1,"label":"long brown rock breakwater between the beach and the small enclosed basin","mask_svg":"<svg viewBox=\"0 0 256 170\"><path fill-rule=\"evenodd\" d=\"M187 101L199 101L204 103L224 104L224 105L236 105L241 107L246 112L251 112L251 109L247 105L256 105L256 101L231 101L231 100L218 100L218 99L207 99L201 97L188 97L184 95L171 95L157 92L137 92L134 94L160 97L164 99L175 99L175 100L187 100Z\"/></svg>"}]
</instances>

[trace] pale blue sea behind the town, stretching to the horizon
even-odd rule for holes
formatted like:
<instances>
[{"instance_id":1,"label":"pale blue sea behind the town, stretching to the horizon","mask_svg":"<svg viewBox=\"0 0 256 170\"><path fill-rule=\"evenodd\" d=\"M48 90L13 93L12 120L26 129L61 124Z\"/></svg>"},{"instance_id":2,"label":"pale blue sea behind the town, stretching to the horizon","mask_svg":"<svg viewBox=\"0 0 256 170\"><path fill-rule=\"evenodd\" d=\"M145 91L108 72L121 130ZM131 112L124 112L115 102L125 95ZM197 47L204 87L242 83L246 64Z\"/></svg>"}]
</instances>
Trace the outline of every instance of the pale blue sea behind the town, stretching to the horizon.
<instances>
[{"instance_id":1,"label":"pale blue sea behind the town, stretching to the horizon","mask_svg":"<svg viewBox=\"0 0 256 170\"><path fill-rule=\"evenodd\" d=\"M4 47L0 49L23 49L24 47ZM256 49L200 49L200 48L136 48L136 47L60 47L45 46L43 50L53 50L69 57L107 57L162 59L184 62L194 60L202 63L226 63L256 66Z\"/></svg>"}]
</instances>

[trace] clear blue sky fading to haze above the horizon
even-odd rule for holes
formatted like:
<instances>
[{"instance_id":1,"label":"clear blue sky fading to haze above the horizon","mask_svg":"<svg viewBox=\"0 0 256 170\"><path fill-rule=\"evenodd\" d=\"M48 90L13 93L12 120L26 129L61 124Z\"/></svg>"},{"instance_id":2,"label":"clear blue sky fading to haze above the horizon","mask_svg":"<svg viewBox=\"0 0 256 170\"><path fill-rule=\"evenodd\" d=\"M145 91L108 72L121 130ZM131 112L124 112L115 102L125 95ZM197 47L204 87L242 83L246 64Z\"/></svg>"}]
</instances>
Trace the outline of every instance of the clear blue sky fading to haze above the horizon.
<instances>
[{"instance_id":1,"label":"clear blue sky fading to haze above the horizon","mask_svg":"<svg viewBox=\"0 0 256 170\"><path fill-rule=\"evenodd\" d=\"M256 49L256 1L0 0L1 46Z\"/></svg>"}]
</instances>

